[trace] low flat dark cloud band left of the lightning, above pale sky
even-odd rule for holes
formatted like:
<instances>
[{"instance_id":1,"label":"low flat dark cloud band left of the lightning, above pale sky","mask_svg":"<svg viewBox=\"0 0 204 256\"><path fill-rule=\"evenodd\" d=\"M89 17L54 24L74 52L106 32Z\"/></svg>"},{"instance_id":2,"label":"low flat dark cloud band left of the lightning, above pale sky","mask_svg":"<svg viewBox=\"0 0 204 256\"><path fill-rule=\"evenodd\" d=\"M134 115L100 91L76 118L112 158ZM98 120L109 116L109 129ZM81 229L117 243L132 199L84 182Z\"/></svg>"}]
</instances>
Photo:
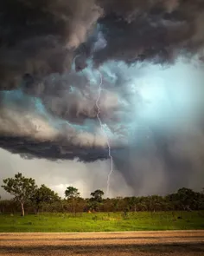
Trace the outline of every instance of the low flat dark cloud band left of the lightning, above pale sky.
<instances>
[{"instance_id":1,"label":"low flat dark cloud band left of the lightning, above pale sky","mask_svg":"<svg viewBox=\"0 0 204 256\"><path fill-rule=\"evenodd\" d=\"M79 148L73 145L67 145L63 141L34 141L25 137L0 137L1 148L10 151L13 154L21 154L25 159L45 158L51 161L73 160L96 161L107 158L107 149L103 148Z\"/></svg>"}]
</instances>

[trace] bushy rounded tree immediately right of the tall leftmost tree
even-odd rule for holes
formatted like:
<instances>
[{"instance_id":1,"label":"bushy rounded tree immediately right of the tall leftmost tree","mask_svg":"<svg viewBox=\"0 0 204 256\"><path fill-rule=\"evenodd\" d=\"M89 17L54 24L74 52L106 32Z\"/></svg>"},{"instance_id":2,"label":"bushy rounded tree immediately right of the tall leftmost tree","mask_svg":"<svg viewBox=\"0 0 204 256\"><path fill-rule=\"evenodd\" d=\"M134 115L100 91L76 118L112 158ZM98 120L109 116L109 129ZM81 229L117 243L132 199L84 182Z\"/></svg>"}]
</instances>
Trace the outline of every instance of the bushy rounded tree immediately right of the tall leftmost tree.
<instances>
[{"instance_id":1,"label":"bushy rounded tree immediately right of the tall leftmost tree","mask_svg":"<svg viewBox=\"0 0 204 256\"><path fill-rule=\"evenodd\" d=\"M42 184L41 187L35 189L35 193L32 195L30 200L35 206L35 213L39 213L41 204L43 202L52 203L54 201L60 200L60 197L52 189Z\"/></svg>"}]
</instances>

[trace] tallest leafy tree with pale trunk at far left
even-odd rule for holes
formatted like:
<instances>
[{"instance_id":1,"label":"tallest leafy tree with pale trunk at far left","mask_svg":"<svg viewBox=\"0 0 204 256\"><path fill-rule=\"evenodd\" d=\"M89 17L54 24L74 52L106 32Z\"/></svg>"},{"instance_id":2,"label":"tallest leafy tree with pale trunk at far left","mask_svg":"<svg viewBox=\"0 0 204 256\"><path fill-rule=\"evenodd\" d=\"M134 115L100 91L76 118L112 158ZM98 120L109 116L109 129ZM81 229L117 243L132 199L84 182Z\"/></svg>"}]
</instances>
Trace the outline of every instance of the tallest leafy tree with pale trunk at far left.
<instances>
[{"instance_id":1,"label":"tallest leafy tree with pale trunk at far left","mask_svg":"<svg viewBox=\"0 0 204 256\"><path fill-rule=\"evenodd\" d=\"M3 180L2 187L6 192L14 195L15 200L21 204L22 216L25 215L24 204L35 194L35 180L32 178L25 178L22 174L15 174L15 178L7 178Z\"/></svg>"}]
</instances>

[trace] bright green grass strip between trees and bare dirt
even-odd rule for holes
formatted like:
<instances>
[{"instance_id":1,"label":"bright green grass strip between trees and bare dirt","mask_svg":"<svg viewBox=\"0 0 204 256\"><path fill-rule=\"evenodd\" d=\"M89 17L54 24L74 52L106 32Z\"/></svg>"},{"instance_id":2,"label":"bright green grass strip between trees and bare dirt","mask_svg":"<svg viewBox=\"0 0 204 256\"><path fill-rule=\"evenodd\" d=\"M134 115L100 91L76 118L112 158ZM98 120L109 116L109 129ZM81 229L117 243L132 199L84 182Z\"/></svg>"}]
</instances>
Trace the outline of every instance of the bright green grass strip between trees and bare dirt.
<instances>
[{"instance_id":1,"label":"bright green grass strip between trees and bare dirt","mask_svg":"<svg viewBox=\"0 0 204 256\"><path fill-rule=\"evenodd\" d=\"M99 232L204 229L204 212L0 214L0 232Z\"/></svg>"}]
</instances>

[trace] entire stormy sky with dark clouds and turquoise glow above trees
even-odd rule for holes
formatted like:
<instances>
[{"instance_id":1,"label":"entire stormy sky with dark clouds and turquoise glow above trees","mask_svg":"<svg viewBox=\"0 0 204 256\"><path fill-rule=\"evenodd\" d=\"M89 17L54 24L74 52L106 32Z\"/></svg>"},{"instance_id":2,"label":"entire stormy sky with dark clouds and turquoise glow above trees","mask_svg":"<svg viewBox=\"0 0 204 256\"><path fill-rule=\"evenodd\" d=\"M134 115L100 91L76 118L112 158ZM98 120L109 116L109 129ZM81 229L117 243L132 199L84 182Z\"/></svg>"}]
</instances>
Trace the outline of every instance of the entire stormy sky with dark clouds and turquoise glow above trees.
<instances>
[{"instance_id":1,"label":"entire stormy sky with dark clouds and turquoise glow above trees","mask_svg":"<svg viewBox=\"0 0 204 256\"><path fill-rule=\"evenodd\" d=\"M201 190L201 0L10 0L0 12L0 183L22 172L61 196L106 191L110 145L106 196Z\"/></svg>"}]
</instances>

